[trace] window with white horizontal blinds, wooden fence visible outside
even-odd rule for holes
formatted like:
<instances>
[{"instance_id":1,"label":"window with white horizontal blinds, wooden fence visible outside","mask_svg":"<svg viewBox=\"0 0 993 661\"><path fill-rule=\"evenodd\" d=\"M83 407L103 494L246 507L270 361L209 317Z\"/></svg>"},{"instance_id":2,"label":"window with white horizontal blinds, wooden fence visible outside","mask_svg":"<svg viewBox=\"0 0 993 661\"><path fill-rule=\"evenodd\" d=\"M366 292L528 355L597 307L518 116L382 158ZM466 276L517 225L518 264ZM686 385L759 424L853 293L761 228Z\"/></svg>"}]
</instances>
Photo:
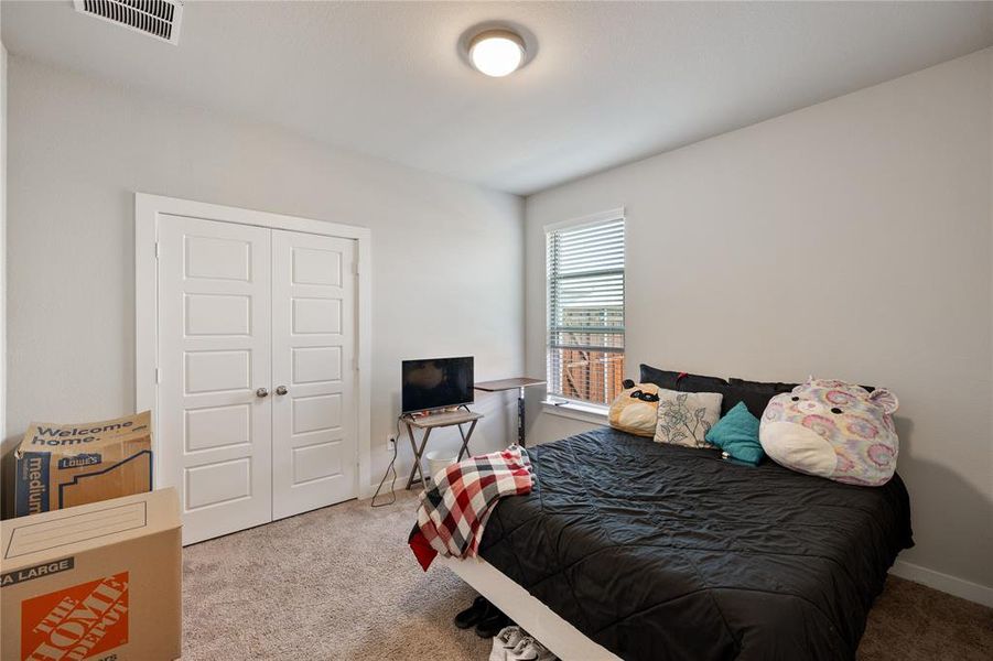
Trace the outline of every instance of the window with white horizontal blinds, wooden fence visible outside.
<instances>
[{"instance_id":1,"label":"window with white horizontal blinds, wooden fence visible outside","mask_svg":"<svg viewBox=\"0 0 993 661\"><path fill-rule=\"evenodd\" d=\"M548 392L609 404L624 380L624 213L547 232Z\"/></svg>"}]
</instances>

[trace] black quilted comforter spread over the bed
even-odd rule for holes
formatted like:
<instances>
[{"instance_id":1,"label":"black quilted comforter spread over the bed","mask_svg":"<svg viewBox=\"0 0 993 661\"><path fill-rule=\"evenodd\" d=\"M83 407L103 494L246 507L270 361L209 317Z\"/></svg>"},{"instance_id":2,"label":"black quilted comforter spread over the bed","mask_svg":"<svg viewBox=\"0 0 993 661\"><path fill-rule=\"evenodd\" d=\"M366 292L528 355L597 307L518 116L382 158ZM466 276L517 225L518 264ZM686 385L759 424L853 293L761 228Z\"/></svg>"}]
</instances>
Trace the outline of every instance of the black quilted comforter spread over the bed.
<instances>
[{"instance_id":1,"label":"black quilted comforter spread over the bed","mask_svg":"<svg viewBox=\"0 0 993 661\"><path fill-rule=\"evenodd\" d=\"M614 430L529 449L481 555L624 659L853 659L896 554L899 476L877 488L731 464Z\"/></svg>"}]
</instances>

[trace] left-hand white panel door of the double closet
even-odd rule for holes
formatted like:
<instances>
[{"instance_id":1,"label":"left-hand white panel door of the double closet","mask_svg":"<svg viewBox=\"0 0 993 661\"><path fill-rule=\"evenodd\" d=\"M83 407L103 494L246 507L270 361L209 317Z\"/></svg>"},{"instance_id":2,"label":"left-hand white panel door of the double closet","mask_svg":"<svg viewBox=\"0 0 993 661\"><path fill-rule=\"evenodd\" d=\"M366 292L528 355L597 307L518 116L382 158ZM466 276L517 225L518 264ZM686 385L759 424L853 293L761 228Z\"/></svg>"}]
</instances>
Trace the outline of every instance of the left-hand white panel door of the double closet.
<instances>
[{"instance_id":1,"label":"left-hand white panel door of the double closet","mask_svg":"<svg viewBox=\"0 0 993 661\"><path fill-rule=\"evenodd\" d=\"M156 460L184 544L272 519L270 237L160 216Z\"/></svg>"}]
</instances>

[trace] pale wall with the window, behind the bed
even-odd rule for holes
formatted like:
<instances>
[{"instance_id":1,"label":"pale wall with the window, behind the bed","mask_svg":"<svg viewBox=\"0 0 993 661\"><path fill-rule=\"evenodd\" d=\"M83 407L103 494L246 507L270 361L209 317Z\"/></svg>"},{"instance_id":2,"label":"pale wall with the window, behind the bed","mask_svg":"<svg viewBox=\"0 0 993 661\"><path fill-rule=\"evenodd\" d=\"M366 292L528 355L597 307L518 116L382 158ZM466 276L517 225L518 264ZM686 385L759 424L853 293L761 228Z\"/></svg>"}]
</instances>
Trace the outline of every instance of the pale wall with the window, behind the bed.
<instances>
[{"instance_id":1,"label":"pale wall with the window, behind the bed","mask_svg":"<svg viewBox=\"0 0 993 661\"><path fill-rule=\"evenodd\" d=\"M893 388L917 541L902 557L987 598L991 61L984 51L529 197L529 371L544 371L542 227L624 205L626 373L644 361ZM535 429L553 435L557 420Z\"/></svg>"}]
</instances>

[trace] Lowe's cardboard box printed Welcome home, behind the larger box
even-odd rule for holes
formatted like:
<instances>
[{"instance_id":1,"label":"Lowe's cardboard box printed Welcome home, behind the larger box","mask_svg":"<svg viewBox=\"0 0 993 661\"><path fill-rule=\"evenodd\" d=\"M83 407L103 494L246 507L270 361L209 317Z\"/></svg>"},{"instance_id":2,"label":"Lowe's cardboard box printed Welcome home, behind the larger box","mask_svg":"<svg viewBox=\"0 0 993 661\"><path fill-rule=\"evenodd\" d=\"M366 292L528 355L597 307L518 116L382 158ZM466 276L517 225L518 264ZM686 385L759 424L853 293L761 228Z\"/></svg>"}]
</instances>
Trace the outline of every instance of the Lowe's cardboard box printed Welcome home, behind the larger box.
<instances>
[{"instance_id":1,"label":"Lowe's cardboard box printed Welcome home, behind the larger box","mask_svg":"<svg viewBox=\"0 0 993 661\"><path fill-rule=\"evenodd\" d=\"M14 454L14 516L150 491L149 411L80 424L32 422Z\"/></svg>"}]
</instances>

